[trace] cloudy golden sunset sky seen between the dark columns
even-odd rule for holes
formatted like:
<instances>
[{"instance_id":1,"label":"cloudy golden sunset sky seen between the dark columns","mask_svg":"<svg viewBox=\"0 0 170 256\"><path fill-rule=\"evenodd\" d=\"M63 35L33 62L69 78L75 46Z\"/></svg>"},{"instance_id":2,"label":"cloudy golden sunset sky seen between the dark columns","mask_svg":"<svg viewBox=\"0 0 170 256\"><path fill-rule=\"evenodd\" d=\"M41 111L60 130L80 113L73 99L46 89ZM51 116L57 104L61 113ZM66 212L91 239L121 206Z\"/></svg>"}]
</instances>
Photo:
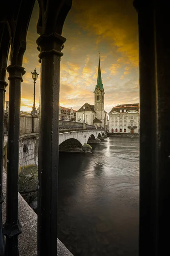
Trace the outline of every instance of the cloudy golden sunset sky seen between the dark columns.
<instances>
[{"instance_id":1,"label":"cloudy golden sunset sky seen between the dark columns","mask_svg":"<svg viewBox=\"0 0 170 256\"><path fill-rule=\"evenodd\" d=\"M137 13L132 3L133 0L73 0L62 31L67 40L61 60L61 106L78 110L84 100L94 104L98 51L105 90L105 110L109 112L114 105L121 103L139 102L138 26ZM36 44L38 15L36 1L23 60L26 70L21 95L23 111L31 111L33 105L31 71L36 68L37 73L40 73ZM8 100L9 86L6 89ZM36 107L39 106L39 99L40 75L36 83Z\"/></svg>"}]
</instances>

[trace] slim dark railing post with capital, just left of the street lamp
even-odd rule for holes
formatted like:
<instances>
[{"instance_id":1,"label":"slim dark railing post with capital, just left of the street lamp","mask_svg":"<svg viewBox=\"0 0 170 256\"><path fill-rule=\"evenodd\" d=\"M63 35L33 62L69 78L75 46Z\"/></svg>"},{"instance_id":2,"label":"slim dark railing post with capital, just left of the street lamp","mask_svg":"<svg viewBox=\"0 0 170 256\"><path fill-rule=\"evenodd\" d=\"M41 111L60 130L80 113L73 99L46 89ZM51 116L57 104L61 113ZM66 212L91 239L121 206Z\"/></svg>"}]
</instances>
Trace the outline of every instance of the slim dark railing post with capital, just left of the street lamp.
<instances>
[{"instance_id":1,"label":"slim dark railing post with capital, just left of the street lamp","mask_svg":"<svg viewBox=\"0 0 170 256\"><path fill-rule=\"evenodd\" d=\"M9 118L7 148L7 191L6 191L6 223L3 233L6 235L6 256L17 256L18 235L21 226L18 219L18 162L20 133L20 96L21 80L24 68L8 66L9 86Z\"/></svg>"}]
</instances>

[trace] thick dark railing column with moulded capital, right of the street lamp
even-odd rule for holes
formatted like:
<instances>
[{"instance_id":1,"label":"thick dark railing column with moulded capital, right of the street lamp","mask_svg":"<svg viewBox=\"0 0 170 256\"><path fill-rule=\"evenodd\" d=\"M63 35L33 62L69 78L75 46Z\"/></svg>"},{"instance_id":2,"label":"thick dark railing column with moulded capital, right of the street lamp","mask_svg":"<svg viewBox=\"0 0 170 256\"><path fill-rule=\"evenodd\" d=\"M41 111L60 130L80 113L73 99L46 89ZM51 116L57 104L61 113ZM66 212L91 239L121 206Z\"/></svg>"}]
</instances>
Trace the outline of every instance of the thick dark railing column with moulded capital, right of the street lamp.
<instances>
[{"instance_id":1,"label":"thick dark railing column with moulded capital, right of the street lamp","mask_svg":"<svg viewBox=\"0 0 170 256\"><path fill-rule=\"evenodd\" d=\"M37 39L41 60L38 255L57 255L59 74L65 40L57 33Z\"/></svg>"}]
</instances>

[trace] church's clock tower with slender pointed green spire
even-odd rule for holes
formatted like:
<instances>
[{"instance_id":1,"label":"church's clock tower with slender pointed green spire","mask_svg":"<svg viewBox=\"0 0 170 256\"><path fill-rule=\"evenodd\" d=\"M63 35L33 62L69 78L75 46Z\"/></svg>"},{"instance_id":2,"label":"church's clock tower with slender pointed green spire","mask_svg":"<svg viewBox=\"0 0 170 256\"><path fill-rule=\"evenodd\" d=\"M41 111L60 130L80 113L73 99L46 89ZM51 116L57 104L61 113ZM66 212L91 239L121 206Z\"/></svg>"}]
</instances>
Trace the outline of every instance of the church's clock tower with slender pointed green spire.
<instances>
[{"instance_id":1,"label":"church's clock tower with slender pointed green spire","mask_svg":"<svg viewBox=\"0 0 170 256\"><path fill-rule=\"evenodd\" d=\"M100 54L99 54L97 84L94 90L94 111L96 111L96 117L102 122L103 127L105 127L104 94L105 92L102 84L102 75L100 70Z\"/></svg>"}]
</instances>

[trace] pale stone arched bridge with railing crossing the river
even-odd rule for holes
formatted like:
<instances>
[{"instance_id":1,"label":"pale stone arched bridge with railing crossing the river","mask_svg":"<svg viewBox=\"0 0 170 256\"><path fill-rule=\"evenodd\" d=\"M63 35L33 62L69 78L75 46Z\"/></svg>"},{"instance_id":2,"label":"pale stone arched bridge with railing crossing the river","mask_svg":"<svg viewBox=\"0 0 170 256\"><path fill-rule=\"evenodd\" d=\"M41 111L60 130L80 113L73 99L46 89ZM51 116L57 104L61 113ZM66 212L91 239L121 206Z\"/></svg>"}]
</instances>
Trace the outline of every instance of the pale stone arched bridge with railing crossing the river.
<instances>
[{"instance_id":1,"label":"pale stone arched bridge with railing crossing the river","mask_svg":"<svg viewBox=\"0 0 170 256\"><path fill-rule=\"evenodd\" d=\"M3 165L7 165L7 134L8 114L5 115L5 140L3 150ZM105 137L105 129L85 123L59 120L59 151L74 153L91 153L89 143L100 143ZM25 167L38 165L39 117L20 115L19 141L19 172ZM27 150L24 151L24 145Z\"/></svg>"}]
</instances>

